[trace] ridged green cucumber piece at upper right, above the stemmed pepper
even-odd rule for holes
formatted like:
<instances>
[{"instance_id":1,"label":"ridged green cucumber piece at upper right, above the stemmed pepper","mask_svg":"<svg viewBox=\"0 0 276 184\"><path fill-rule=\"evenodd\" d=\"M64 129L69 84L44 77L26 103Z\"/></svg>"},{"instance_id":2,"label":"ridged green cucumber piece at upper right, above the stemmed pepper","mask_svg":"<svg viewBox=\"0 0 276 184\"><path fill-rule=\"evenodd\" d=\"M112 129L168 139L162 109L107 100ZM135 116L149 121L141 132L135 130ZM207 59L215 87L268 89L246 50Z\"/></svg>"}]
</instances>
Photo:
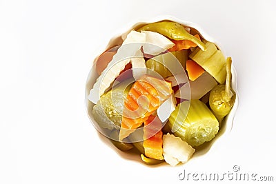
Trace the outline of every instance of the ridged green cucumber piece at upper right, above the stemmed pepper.
<instances>
[{"instance_id":1,"label":"ridged green cucumber piece at upper right, above the stemmed pepper","mask_svg":"<svg viewBox=\"0 0 276 184\"><path fill-rule=\"evenodd\" d=\"M226 80L226 58L220 50L217 50L215 43L206 42L206 51L196 48L190 59L201 65L217 82L224 83Z\"/></svg>"}]
</instances>

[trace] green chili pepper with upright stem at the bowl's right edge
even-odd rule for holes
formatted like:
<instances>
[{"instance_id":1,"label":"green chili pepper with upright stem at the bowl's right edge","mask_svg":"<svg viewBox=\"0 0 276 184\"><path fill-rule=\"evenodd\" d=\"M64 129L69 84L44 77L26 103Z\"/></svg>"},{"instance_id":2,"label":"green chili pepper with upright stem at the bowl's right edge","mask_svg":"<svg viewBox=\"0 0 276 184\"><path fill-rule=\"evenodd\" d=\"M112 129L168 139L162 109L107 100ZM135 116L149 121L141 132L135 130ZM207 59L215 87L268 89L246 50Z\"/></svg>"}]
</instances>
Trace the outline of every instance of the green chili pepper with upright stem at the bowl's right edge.
<instances>
[{"instance_id":1,"label":"green chili pepper with upright stem at the bowl's right edge","mask_svg":"<svg viewBox=\"0 0 276 184\"><path fill-rule=\"evenodd\" d=\"M226 84L217 85L210 92L209 105L219 122L229 114L235 103L236 94L231 89L231 64L230 57L226 60Z\"/></svg>"}]
</instances>

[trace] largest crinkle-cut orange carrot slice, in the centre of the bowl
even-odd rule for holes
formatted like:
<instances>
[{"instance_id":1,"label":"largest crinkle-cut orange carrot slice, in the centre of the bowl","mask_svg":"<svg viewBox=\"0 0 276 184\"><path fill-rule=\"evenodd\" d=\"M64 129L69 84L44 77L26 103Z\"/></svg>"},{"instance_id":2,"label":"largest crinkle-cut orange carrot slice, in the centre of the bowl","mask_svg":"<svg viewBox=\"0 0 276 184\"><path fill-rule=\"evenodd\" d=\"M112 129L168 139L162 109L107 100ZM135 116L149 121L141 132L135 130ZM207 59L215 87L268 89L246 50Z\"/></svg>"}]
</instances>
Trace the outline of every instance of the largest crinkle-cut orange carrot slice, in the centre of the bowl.
<instances>
[{"instance_id":1,"label":"largest crinkle-cut orange carrot slice, in the centre of the bowl","mask_svg":"<svg viewBox=\"0 0 276 184\"><path fill-rule=\"evenodd\" d=\"M119 140L123 140L141 126L170 94L171 83L149 75L141 76L132 85L124 101Z\"/></svg>"}]
</instances>

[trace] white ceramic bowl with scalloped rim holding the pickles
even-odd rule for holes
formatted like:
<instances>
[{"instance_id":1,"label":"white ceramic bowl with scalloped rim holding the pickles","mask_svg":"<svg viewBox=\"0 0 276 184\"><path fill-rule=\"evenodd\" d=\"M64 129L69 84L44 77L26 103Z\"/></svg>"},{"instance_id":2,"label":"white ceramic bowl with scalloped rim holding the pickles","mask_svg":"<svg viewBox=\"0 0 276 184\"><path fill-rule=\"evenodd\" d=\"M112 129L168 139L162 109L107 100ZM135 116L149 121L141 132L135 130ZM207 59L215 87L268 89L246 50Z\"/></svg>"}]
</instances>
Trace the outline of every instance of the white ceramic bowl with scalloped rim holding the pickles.
<instances>
[{"instance_id":1,"label":"white ceramic bowl with scalloped rim holding the pickles","mask_svg":"<svg viewBox=\"0 0 276 184\"><path fill-rule=\"evenodd\" d=\"M190 28L194 29L195 31L197 31L201 35L201 37L204 37L204 39L206 39L207 41L215 43L217 45L217 48L219 48L219 50L221 50L221 52L224 53L224 56L226 56L226 54L225 54L226 52L224 51L223 47L215 39L210 37L199 25L197 25L196 23L188 22L188 21L182 21L182 20L179 20L175 17L170 17L170 16L155 17L154 19L141 20L141 21L138 21L137 23L133 23L132 26L130 26L129 28L125 28L125 29L121 30L121 33L117 34L115 37L112 37L110 39L108 45L106 45L105 50L108 50L109 48L112 48L112 46L114 46L114 45L121 45L121 43L123 41L121 39L121 37L125 37L126 34L128 34L128 32L130 32L130 30L133 30L135 28L139 28L142 25L146 25L147 23L153 23L153 22L162 21L162 20L175 21L177 23L185 25L186 27L190 27ZM97 61L97 58L99 57L99 55L102 52L104 52L104 50L97 53L97 55L95 56L94 62ZM204 156L204 154L206 154L206 152L208 152L208 150L210 150L210 147L212 147L214 144L216 144L218 142L217 141L218 139L221 139L222 136L226 136L232 130L233 119L234 119L235 112L236 112L237 107L238 107L239 98L238 98L238 93L237 93L237 73L236 73L236 70L235 70L234 66L232 67L231 72L232 72L232 88L236 92L235 104L234 104L232 110L230 111L230 114L228 114L228 116L226 116L226 118L224 119L224 123L222 123L223 125L220 127L219 132L215 136L215 138L212 141L209 141L208 143L204 143L204 145L202 145L200 147L200 149L197 150L195 152L195 154L193 154L193 159L195 159L197 156ZM95 120L93 119L92 113L91 113L93 103L91 103L88 100L88 94L89 94L90 90L92 89L92 86L95 83L95 81L97 80L98 76L99 75L96 72L96 67L93 64L92 68L91 68L91 70L88 74L88 78L87 78L87 81L86 81L86 90L85 90L86 109L87 109L89 119L90 119L90 121L92 122L93 125L95 124L95 123L93 123L93 122L95 122ZM106 136L103 136L101 133L99 133L99 139L101 139L101 141L103 141L103 143L106 143L107 145L109 145L110 147L113 148L113 150L110 149L110 154L119 154L119 155L123 156L126 159L131 159L131 160L134 160L134 161L137 161L137 162L143 164L139 154L131 154L131 153L128 153L128 152L121 152L114 145L112 145L112 143L106 138Z\"/></svg>"}]
</instances>

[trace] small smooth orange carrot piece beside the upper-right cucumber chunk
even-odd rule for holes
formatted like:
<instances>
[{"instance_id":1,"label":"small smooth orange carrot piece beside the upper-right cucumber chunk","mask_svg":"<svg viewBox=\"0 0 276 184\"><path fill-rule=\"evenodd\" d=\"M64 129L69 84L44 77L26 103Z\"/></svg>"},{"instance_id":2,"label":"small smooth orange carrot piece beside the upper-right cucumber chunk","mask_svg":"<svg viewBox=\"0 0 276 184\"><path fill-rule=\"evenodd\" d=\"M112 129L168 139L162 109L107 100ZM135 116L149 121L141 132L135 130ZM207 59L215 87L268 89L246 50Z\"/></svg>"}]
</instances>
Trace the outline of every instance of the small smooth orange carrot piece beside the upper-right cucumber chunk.
<instances>
[{"instance_id":1,"label":"small smooth orange carrot piece beside the upper-right cucumber chunk","mask_svg":"<svg viewBox=\"0 0 276 184\"><path fill-rule=\"evenodd\" d=\"M201 76L204 73L204 68L202 68L199 64L197 64L193 60L186 61L186 70L188 72L189 79L191 81L195 81L197 77Z\"/></svg>"}]
</instances>

